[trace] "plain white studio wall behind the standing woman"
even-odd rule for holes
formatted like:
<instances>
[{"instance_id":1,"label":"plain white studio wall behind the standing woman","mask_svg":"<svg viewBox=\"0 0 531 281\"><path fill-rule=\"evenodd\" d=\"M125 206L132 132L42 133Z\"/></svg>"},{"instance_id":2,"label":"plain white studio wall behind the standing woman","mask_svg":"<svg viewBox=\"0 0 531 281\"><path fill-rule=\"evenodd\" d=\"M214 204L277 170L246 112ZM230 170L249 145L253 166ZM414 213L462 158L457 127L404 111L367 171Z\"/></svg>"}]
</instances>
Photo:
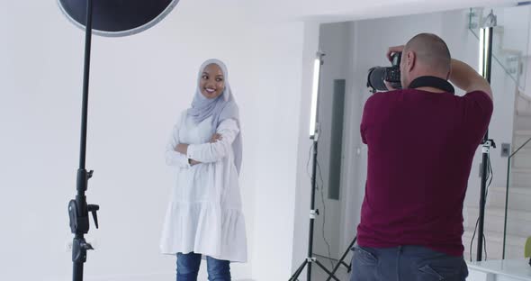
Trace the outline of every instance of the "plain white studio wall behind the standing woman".
<instances>
[{"instance_id":1,"label":"plain white studio wall behind the standing woman","mask_svg":"<svg viewBox=\"0 0 531 281\"><path fill-rule=\"evenodd\" d=\"M175 258L158 252L174 184L164 148L192 101L199 65L211 57L229 67L244 134L249 262L234 264L233 277L289 276L304 28L252 17L243 7L182 1L147 32L93 38L87 199L101 211L100 229L87 235L96 248L87 280L175 277ZM54 1L2 3L0 19L0 279L68 280L84 32Z\"/></svg>"}]
</instances>

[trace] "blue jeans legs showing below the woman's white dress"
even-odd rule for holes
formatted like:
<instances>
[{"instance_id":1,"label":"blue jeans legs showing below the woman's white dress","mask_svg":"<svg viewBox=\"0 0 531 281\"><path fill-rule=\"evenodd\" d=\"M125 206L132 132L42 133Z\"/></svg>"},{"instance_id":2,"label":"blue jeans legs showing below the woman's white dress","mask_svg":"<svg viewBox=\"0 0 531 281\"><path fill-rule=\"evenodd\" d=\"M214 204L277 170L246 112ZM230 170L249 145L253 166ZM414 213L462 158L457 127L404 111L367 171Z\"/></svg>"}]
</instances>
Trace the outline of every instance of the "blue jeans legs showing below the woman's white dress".
<instances>
[{"instance_id":1,"label":"blue jeans legs showing below the woman's white dress","mask_svg":"<svg viewBox=\"0 0 531 281\"><path fill-rule=\"evenodd\" d=\"M177 281L197 281L201 254L177 254ZM230 262L206 257L209 281L230 281Z\"/></svg>"}]
</instances>

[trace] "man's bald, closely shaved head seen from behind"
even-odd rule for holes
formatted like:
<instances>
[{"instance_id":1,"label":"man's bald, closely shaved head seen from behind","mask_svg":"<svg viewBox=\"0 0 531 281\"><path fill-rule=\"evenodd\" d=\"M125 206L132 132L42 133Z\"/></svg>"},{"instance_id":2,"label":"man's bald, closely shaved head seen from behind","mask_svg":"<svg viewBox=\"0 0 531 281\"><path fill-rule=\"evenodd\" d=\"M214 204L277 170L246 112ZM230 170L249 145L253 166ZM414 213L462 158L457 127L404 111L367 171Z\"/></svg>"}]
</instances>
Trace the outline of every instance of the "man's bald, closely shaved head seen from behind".
<instances>
[{"instance_id":1,"label":"man's bald, closely shaved head seen from behind","mask_svg":"<svg viewBox=\"0 0 531 281\"><path fill-rule=\"evenodd\" d=\"M406 81L402 85L409 85L416 77L435 76L448 78L452 58L446 42L431 33L420 33L406 44L402 51L402 66Z\"/></svg>"}]
</instances>

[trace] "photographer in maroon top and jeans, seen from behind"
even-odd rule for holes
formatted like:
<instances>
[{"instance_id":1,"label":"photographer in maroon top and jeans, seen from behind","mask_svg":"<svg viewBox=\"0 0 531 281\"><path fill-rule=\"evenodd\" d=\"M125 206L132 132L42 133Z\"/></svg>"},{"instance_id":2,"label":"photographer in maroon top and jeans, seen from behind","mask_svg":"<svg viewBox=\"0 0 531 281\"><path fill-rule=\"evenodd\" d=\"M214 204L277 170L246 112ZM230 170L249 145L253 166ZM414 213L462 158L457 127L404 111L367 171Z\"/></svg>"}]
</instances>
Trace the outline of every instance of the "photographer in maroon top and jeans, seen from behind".
<instances>
[{"instance_id":1,"label":"photographer in maroon top and jeans, seen from behind","mask_svg":"<svg viewBox=\"0 0 531 281\"><path fill-rule=\"evenodd\" d=\"M368 169L351 281L462 281L464 195L491 86L437 35L418 34L388 58L397 52L402 89L386 83L392 91L363 113ZM467 94L454 95L448 79Z\"/></svg>"}]
</instances>

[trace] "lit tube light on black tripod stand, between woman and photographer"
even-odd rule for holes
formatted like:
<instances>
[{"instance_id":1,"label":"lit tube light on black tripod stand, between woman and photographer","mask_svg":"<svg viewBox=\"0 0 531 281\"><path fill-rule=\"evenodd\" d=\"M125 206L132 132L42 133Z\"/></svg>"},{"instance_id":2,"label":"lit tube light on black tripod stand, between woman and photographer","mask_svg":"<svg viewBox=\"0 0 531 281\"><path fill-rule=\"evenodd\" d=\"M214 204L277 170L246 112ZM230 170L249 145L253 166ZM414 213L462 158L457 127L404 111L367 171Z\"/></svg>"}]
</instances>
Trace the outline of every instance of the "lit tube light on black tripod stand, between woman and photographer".
<instances>
[{"instance_id":1,"label":"lit tube light on black tripod stand, between woman and photographer","mask_svg":"<svg viewBox=\"0 0 531 281\"><path fill-rule=\"evenodd\" d=\"M319 93L320 93L320 71L323 64L323 57L325 54L323 52L318 52L314 61L313 68L313 85L311 93L311 115L310 115L310 139L313 141L313 159L312 159L312 168L311 168L311 201L310 201L310 232L308 236L308 256L304 259L301 266L297 268L293 276L289 281L296 281L297 278L302 274L304 267L307 267L307 281L311 281L311 264L315 263L327 274L331 275L332 273L329 269L320 263L320 261L313 257L313 224L315 218L319 215L319 210L315 209L315 191L317 189L316 181L316 171L317 171L317 148L319 142L319 126L318 126L318 104L319 104ZM333 279L339 281L339 279L333 276Z\"/></svg>"}]
</instances>

